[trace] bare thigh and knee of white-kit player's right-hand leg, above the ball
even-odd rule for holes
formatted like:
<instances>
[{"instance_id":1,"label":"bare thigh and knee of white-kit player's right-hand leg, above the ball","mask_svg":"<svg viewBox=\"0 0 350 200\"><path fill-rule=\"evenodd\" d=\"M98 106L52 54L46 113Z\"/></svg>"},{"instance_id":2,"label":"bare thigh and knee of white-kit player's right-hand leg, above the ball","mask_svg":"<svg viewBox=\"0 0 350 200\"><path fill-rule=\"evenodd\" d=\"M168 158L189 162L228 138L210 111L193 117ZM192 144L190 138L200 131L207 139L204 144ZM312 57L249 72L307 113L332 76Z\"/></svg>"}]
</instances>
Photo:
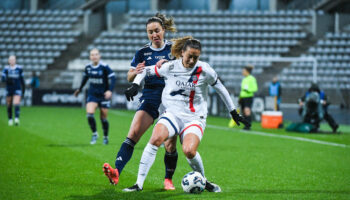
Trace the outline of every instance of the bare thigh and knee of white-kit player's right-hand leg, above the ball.
<instances>
[{"instance_id":1,"label":"bare thigh and knee of white-kit player's right-hand leg, above the ball","mask_svg":"<svg viewBox=\"0 0 350 200\"><path fill-rule=\"evenodd\" d=\"M196 133L189 132L182 139L182 151L185 156L192 159L197 152L201 139Z\"/></svg>"}]
</instances>

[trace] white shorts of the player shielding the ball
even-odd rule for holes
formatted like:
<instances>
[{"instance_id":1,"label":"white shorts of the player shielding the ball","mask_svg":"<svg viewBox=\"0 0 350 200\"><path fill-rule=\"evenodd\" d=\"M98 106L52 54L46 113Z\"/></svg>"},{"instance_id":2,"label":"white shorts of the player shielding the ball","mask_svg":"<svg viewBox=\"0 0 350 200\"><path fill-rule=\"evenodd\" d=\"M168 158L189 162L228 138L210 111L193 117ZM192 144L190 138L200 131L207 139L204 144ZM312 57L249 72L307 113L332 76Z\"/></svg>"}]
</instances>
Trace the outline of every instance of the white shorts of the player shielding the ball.
<instances>
[{"instance_id":1,"label":"white shorts of the player shielding the ball","mask_svg":"<svg viewBox=\"0 0 350 200\"><path fill-rule=\"evenodd\" d=\"M167 127L169 138L179 135L181 143L185 135L189 133L197 135L199 140L201 140L206 126L205 119L183 119L170 112L164 112L159 117L158 123Z\"/></svg>"}]
</instances>

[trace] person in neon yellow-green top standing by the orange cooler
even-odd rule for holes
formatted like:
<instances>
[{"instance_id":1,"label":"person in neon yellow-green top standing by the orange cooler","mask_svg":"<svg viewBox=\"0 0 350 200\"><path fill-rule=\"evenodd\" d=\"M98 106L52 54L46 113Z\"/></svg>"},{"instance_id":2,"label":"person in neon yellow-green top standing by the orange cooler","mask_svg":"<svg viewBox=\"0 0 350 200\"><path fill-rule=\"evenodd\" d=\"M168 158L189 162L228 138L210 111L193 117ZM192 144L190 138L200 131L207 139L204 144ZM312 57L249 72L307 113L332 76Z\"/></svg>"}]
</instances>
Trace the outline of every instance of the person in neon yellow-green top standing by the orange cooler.
<instances>
[{"instance_id":1,"label":"person in neon yellow-green top standing by the orange cooler","mask_svg":"<svg viewBox=\"0 0 350 200\"><path fill-rule=\"evenodd\" d=\"M256 79L251 75L254 66L247 65L243 68L242 74L244 76L241 83L241 92L239 94L239 104L243 111L243 116L251 123L252 121L252 105L254 93L258 91ZM244 130L250 130L250 127L244 126Z\"/></svg>"}]
</instances>

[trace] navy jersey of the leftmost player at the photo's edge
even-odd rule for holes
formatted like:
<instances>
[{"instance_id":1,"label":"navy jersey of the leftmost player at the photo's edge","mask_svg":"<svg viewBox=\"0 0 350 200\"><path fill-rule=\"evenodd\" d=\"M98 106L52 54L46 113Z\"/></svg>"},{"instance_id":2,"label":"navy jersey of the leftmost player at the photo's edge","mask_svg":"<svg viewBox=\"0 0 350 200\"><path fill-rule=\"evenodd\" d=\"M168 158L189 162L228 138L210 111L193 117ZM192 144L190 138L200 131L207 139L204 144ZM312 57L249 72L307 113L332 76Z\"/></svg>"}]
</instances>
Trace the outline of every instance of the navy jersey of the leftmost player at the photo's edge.
<instances>
[{"instance_id":1,"label":"navy jersey of the leftmost player at the photo's edge","mask_svg":"<svg viewBox=\"0 0 350 200\"><path fill-rule=\"evenodd\" d=\"M2 71L2 81L6 82L7 90L21 90L24 84L23 69L19 65L6 66Z\"/></svg>"}]
</instances>

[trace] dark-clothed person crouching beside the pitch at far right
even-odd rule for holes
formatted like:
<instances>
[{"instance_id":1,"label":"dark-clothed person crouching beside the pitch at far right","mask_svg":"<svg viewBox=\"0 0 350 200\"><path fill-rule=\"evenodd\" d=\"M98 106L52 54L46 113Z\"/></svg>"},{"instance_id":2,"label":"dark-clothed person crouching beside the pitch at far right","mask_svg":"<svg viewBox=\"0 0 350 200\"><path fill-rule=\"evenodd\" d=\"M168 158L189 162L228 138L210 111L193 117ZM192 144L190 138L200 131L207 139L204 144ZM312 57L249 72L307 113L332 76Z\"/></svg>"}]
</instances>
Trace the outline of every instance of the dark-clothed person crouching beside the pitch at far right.
<instances>
[{"instance_id":1,"label":"dark-clothed person crouching beside the pitch at far right","mask_svg":"<svg viewBox=\"0 0 350 200\"><path fill-rule=\"evenodd\" d=\"M330 105L328 97L324 91L320 90L316 83L312 83L305 95L299 98L298 101L299 114L303 117L304 122L314 122L312 124L318 128L321 120L325 119L332 128L333 133L337 132L339 125L328 112L328 106ZM312 109L312 105L307 104L308 101L316 102L316 109ZM315 115L312 114L313 110L315 110ZM317 119L311 119L313 116L317 117Z\"/></svg>"}]
</instances>

